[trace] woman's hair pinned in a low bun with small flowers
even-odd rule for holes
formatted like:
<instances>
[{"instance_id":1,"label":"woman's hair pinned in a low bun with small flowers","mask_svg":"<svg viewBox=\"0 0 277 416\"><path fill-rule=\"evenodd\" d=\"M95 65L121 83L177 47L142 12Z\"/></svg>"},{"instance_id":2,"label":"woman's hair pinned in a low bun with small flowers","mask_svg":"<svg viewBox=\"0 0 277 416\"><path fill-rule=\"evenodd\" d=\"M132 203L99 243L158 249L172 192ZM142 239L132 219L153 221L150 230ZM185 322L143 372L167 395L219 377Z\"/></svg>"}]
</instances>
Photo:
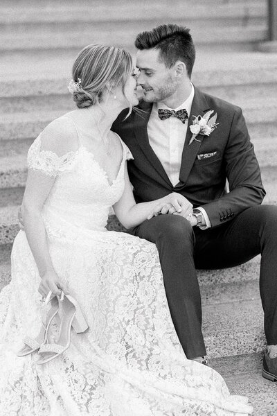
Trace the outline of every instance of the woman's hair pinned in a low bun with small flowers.
<instances>
[{"instance_id":1,"label":"woman's hair pinned in a low bun with small flowers","mask_svg":"<svg viewBox=\"0 0 277 416\"><path fill-rule=\"evenodd\" d=\"M104 45L85 46L73 64L73 81L78 85L73 92L73 100L78 108L86 108L99 104L105 89L113 94L112 90L119 86L124 94L125 83L132 71L132 57L124 49ZM129 110L132 110L130 103Z\"/></svg>"}]
</instances>

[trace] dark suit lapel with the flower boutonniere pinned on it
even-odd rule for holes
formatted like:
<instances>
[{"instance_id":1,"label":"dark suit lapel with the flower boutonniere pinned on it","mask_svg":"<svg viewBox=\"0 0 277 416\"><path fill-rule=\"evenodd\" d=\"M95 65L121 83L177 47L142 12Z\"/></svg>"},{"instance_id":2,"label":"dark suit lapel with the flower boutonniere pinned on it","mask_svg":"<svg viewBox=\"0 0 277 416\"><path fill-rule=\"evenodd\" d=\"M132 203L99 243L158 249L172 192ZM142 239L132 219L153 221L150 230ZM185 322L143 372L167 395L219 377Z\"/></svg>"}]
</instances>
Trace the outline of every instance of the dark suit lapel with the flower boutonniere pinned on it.
<instances>
[{"instance_id":1,"label":"dark suit lapel with the flower boutonniere pinned on it","mask_svg":"<svg viewBox=\"0 0 277 416\"><path fill-rule=\"evenodd\" d=\"M206 101L206 97L199 89L195 88L195 96L193 98L193 105L190 111L190 117L188 119L188 130L186 132L186 140L183 148L183 153L181 157L181 168L179 175L179 184L176 188L183 187L186 184L188 175L190 174L191 168L195 162L196 155L198 153L199 147L202 144L204 136L198 135L197 140L194 140L192 144L189 145L190 139L192 137L192 132L190 132L190 125L193 123L193 116L203 116L203 114L209 110L209 105Z\"/></svg>"}]
</instances>

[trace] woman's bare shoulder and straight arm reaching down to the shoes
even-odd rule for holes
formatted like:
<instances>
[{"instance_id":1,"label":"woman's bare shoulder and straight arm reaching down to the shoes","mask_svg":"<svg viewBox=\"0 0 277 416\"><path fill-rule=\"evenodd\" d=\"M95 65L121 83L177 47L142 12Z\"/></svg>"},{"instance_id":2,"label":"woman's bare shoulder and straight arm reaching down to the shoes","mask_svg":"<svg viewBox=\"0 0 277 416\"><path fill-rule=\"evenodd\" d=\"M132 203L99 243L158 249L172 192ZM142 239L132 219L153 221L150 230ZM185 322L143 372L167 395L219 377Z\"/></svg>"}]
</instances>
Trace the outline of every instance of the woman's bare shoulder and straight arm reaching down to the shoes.
<instances>
[{"instance_id":1,"label":"woman's bare shoulder and straight arm reaching down to the shoes","mask_svg":"<svg viewBox=\"0 0 277 416\"><path fill-rule=\"evenodd\" d=\"M29 169L21 205L21 215L28 244L37 264L39 276L42 278L38 290L41 295L46 296L49 291L52 291L55 295L60 294L60 289L65 291L51 261L46 229L42 218L44 202L58 174L55 172L57 166L54 162L51 163L51 156L57 162L57 159L66 154L68 148L72 147L75 136L72 135L70 126L55 120L46 127L40 139L41 147L38 153L33 155L29 151L28 154ZM46 155L46 163L44 163L43 155L40 156L41 150L44 150L44 155ZM39 164L41 159L42 162Z\"/></svg>"}]
</instances>

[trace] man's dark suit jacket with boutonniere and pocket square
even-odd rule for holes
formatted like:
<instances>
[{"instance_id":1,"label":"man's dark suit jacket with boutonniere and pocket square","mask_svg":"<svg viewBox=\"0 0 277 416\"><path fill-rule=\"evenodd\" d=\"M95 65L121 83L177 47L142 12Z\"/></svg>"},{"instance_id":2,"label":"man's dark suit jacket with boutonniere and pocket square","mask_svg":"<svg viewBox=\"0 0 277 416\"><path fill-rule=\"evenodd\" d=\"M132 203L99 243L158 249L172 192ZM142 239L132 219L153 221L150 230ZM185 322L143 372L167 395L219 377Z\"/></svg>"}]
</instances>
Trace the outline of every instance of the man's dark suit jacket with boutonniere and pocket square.
<instances>
[{"instance_id":1,"label":"man's dark suit jacket with boutonniere and pocket square","mask_svg":"<svg viewBox=\"0 0 277 416\"><path fill-rule=\"evenodd\" d=\"M125 121L128 110L124 110L112 127L134 156L134 160L128 162L128 171L136 202L156 200L170 192L179 192L194 207L206 209L212 227L262 202L265 190L260 168L240 107L195 88L181 159L180 182L175 187L149 144L147 123L152 103L142 103L139 108L144 112L133 111ZM219 125L210 136L198 135L199 141L189 145L192 136L189 126L193 116L203 116L208 110L217 113ZM212 156L197 158L197 155L207 153ZM226 179L229 192L226 191Z\"/></svg>"}]
</instances>

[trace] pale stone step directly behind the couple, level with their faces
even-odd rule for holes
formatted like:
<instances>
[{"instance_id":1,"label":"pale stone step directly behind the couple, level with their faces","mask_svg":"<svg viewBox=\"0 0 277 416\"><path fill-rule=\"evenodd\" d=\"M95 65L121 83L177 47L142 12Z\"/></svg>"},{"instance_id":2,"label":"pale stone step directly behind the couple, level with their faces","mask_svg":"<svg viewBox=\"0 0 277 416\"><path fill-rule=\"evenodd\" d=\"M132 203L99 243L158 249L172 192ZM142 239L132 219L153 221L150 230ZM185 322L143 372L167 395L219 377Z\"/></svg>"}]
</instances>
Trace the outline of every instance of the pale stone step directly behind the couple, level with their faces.
<instances>
[{"instance_id":1,"label":"pale stone step directly behind the couple, level with their faces","mask_svg":"<svg viewBox=\"0 0 277 416\"><path fill-rule=\"evenodd\" d=\"M12 52L1 58L0 97L68 94L71 67L75 52L37 51ZM193 70L193 83L209 88L253 85L262 93L261 85L275 85L277 55L265 53L213 53L199 51ZM245 93L248 94L246 89ZM1 104L1 111L5 103Z\"/></svg>"}]
</instances>

